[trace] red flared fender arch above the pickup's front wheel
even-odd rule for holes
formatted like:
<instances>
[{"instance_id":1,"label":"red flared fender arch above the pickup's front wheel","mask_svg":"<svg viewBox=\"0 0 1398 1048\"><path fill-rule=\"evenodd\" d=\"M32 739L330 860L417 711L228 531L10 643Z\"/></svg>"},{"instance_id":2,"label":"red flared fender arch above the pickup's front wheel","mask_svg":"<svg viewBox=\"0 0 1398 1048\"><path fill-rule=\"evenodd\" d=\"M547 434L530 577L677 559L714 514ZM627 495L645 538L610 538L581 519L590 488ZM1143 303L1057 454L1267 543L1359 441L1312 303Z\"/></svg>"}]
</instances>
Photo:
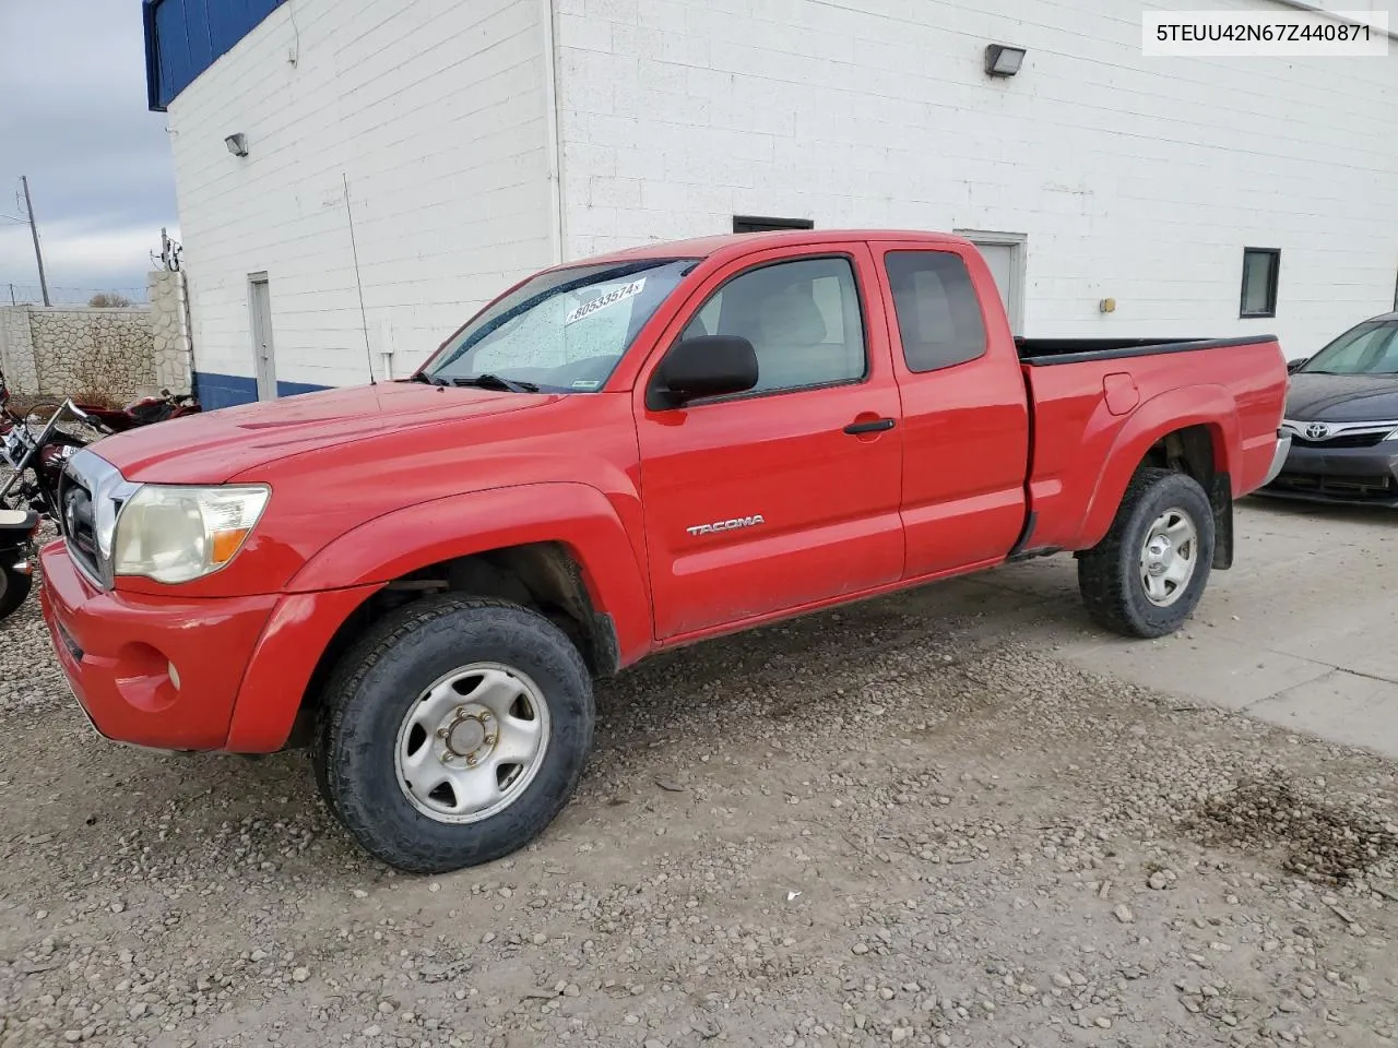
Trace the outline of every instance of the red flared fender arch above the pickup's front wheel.
<instances>
[{"instance_id":1,"label":"red flared fender arch above the pickup's front wheel","mask_svg":"<svg viewBox=\"0 0 1398 1048\"><path fill-rule=\"evenodd\" d=\"M650 595L637 551L607 496L586 483L491 488L387 513L324 546L287 592L389 583L442 560L530 542L570 552L593 609L612 619L622 665L650 650Z\"/></svg>"}]
</instances>

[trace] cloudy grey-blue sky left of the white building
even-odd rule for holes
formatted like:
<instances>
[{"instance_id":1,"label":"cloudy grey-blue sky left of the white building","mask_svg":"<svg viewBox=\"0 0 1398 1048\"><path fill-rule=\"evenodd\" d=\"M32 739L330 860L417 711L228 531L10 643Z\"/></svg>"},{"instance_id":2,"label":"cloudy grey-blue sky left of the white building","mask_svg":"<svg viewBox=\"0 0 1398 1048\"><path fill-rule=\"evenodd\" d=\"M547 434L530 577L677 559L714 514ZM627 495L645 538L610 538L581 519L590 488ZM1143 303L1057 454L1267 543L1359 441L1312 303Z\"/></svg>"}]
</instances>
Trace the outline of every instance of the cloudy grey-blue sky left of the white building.
<instances>
[{"instance_id":1,"label":"cloudy grey-blue sky left of the white building","mask_svg":"<svg viewBox=\"0 0 1398 1048\"><path fill-rule=\"evenodd\" d=\"M145 108L141 0L0 0L0 300L36 293L29 176L49 286L145 286L178 239L165 115ZM87 300L87 295L82 300Z\"/></svg>"}]
</instances>

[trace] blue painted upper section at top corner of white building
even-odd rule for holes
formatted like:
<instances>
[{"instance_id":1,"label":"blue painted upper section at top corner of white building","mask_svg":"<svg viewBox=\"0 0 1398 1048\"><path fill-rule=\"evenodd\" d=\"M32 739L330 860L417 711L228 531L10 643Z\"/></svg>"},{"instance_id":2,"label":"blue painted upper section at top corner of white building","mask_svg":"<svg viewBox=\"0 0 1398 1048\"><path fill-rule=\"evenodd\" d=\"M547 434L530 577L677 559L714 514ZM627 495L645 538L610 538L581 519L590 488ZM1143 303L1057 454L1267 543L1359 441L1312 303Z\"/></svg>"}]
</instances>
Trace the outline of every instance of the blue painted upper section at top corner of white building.
<instances>
[{"instance_id":1,"label":"blue painted upper section at top corner of white building","mask_svg":"<svg viewBox=\"0 0 1398 1048\"><path fill-rule=\"evenodd\" d=\"M284 0L143 0L145 94L164 112Z\"/></svg>"}]
</instances>

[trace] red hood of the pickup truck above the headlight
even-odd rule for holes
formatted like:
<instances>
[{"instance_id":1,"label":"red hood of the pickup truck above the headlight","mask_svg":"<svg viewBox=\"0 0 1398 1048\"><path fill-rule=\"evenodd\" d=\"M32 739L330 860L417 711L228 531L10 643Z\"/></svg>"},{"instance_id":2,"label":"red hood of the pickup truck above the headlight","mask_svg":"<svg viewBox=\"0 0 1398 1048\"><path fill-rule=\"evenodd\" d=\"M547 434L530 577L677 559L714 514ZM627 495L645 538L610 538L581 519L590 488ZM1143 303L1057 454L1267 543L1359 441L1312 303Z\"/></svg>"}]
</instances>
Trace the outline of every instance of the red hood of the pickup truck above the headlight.
<instances>
[{"instance_id":1,"label":"red hood of the pickup truck above the headlight","mask_svg":"<svg viewBox=\"0 0 1398 1048\"><path fill-rule=\"evenodd\" d=\"M389 381L221 408L105 437L129 481L222 483L247 470L384 433L535 408L555 397Z\"/></svg>"}]
</instances>

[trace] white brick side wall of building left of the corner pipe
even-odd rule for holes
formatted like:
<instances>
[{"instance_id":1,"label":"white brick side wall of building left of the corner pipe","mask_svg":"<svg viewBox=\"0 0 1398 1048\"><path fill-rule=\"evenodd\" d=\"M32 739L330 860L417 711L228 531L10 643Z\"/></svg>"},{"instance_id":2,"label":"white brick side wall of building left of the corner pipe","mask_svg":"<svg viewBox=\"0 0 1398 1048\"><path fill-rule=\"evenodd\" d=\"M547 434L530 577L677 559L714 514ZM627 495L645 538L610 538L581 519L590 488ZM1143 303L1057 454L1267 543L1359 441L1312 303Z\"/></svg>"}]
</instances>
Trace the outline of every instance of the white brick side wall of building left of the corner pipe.
<instances>
[{"instance_id":1,"label":"white brick side wall of building left of the corner pipe","mask_svg":"<svg viewBox=\"0 0 1398 1048\"><path fill-rule=\"evenodd\" d=\"M247 275L267 271L278 380L365 380L341 173L380 377L382 349L407 373L551 261L542 11L295 0L173 101L201 373L253 374ZM224 145L235 131L246 158Z\"/></svg>"}]
</instances>

